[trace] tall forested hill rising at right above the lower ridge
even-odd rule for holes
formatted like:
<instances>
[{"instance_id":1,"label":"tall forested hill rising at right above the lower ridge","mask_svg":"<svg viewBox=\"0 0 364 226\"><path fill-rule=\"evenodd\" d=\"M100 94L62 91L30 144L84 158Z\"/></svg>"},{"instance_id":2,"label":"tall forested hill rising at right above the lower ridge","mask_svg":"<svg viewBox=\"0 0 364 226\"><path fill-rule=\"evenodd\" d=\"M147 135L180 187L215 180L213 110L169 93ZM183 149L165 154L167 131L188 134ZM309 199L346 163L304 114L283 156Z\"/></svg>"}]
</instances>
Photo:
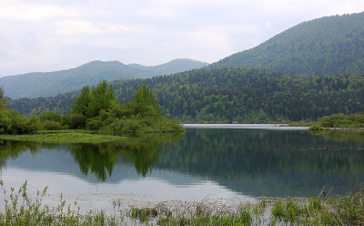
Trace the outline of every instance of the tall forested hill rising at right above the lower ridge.
<instances>
[{"instance_id":1,"label":"tall forested hill rising at right above the lower ridge","mask_svg":"<svg viewBox=\"0 0 364 226\"><path fill-rule=\"evenodd\" d=\"M211 67L251 67L289 75L362 73L364 13L301 23Z\"/></svg>"}]
</instances>

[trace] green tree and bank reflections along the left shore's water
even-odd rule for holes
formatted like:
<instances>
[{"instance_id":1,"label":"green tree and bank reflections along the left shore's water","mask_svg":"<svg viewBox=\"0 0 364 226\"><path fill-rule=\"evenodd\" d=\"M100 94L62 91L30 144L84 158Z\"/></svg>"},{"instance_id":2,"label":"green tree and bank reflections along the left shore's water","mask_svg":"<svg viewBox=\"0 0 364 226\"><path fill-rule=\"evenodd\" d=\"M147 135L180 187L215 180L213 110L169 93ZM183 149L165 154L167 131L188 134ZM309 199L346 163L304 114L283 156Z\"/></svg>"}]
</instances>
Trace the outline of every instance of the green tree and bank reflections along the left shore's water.
<instances>
[{"instance_id":1,"label":"green tree and bank reflections along the left shore's water","mask_svg":"<svg viewBox=\"0 0 364 226\"><path fill-rule=\"evenodd\" d=\"M79 166L82 174L96 175L101 181L111 177L118 162L134 162L136 172L146 177L156 164L162 146L176 143L183 134L144 134L118 142L104 144L72 144L63 145ZM0 139L0 168L5 167L6 159L16 159L21 153L30 151L35 154L39 149L56 149L60 145L40 144Z\"/></svg>"}]
</instances>

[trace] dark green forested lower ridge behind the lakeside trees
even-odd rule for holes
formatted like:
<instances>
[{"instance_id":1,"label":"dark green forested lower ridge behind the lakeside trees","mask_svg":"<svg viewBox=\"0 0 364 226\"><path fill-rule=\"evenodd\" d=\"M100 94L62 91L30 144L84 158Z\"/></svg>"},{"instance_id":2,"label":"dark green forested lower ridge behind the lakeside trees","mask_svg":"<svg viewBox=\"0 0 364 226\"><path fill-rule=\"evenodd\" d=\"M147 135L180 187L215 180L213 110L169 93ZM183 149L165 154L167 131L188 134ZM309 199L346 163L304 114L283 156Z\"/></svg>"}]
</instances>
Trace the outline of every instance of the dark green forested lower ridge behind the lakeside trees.
<instances>
[{"instance_id":1,"label":"dark green forested lower ridge behind the lakeside trees","mask_svg":"<svg viewBox=\"0 0 364 226\"><path fill-rule=\"evenodd\" d=\"M246 68L196 69L172 76L114 83L119 101L137 87L152 87L166 114L183 122L268 122L316 119L333 113L364 111L364 75L300 77ZM23 114L69 111L76 94L15 99Z\"/></svg>"}]
</instances>

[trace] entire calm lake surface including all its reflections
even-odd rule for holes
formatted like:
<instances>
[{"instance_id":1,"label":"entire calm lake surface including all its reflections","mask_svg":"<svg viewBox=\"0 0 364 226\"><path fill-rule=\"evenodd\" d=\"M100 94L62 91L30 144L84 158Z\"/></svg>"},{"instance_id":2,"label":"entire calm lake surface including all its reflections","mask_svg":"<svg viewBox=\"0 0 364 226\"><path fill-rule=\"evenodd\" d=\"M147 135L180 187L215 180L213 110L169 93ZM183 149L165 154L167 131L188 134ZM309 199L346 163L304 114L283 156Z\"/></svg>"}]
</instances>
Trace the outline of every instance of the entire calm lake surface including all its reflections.
<instances>
[{"instance_id":1,"label":"entire calm lake surface including all its reflections","mask_svg":"<svg viewBox=\"0 0 364 226\"><path fill-rule=\"evenodd\" d=\"M187 128L106 145L0 140L1 178L30 190L49 186L88 208L162 200L341 194L364 182L364 133Z\"/></svg>"}]
</instances>

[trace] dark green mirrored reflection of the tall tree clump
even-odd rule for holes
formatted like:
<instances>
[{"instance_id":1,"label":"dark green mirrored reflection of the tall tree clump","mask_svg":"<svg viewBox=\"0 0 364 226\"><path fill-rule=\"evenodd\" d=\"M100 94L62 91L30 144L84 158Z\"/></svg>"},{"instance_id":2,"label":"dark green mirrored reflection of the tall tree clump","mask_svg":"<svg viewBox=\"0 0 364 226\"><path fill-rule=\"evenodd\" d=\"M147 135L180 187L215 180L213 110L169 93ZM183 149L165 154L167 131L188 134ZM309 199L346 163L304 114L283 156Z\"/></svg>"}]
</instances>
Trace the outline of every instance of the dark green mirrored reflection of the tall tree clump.
<instances>
[{"instance_id":1,"label":"dark green mirrored reflection of the tall tree clump","mask_svg":"<svg viewBox=\"0 0 364 226\"><path fill-rule=\"evenodd\" d=\"M143 177L155 165L163 144L176 143L182 134L143 135L134 139L100 145L69 145L69 152L84 175L94 173L105 181L112 176L118 161L134 161L136 172Z\"/></svg>"}]
</instances>

